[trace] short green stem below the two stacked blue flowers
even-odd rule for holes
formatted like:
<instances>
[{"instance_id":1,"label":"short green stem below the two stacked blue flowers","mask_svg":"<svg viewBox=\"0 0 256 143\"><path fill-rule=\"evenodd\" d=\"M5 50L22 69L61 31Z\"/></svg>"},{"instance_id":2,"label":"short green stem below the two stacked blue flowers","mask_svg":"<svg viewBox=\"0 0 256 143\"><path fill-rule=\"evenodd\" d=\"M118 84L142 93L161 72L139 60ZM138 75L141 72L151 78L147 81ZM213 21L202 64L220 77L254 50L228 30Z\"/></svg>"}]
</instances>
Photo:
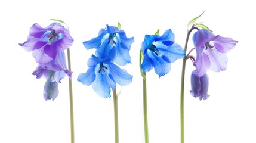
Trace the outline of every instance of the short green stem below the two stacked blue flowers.
<instances>
[{"instance_id":1,"label":"short green stem below the two stacked blue flowers","mask_svg":"<svg viewBox=\"0 0 256 143\"><path fill-rule=\"evenodd\" d=\"M119 131L118 131L118 95L116 94L116 88L113 90L114 99L114 116L115 116L115 143L119 142Z\"/></svg>"}]
</instances>

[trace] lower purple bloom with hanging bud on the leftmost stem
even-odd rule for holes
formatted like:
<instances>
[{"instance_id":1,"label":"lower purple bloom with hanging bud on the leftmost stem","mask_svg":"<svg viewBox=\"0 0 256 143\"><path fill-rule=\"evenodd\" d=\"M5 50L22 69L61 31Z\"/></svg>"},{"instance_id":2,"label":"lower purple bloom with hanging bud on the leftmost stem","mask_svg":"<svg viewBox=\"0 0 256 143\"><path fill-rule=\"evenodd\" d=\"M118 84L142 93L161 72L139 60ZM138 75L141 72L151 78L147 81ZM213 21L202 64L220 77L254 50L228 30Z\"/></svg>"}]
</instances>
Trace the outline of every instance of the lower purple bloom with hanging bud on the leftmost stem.
<instances>
[{"instance_id":1,"label":"lower purple bloom with hanging bud on the leftmost stem","mask_svg":"<svg viewBox=\"0 0 256 143\"><path fill-rule=\"evenodd\" d=\"M57 54L54 60L46 64L38 64L33 72L36 78L45 77L47 80L44 85L45 100L54 100L58 95L58 83L67 75L72 77L72 72L67 69L64 51Z\"/></svg>"}]
</instances>

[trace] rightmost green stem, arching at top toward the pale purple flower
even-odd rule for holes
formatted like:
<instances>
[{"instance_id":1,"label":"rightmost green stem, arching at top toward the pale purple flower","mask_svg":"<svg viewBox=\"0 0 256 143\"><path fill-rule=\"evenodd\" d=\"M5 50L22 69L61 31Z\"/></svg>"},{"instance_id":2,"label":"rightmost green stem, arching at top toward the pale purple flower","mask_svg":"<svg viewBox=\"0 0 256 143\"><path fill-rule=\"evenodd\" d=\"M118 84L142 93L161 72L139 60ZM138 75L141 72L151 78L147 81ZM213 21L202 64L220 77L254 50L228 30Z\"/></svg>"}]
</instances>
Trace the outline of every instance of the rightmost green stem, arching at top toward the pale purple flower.
<instances>
[{"instance_id":1,"label":"rightmost green stem, arching at top toward the pale purple flower","mask_svg":"<svg viewBox=\"0 0 256 143\"><path fill-rule=\"evenodd\" d=\"M187 42L189 41L189 35L190 33L192 32L193 29L196 29L195 28L192 28L189 30L189 32L187 33L187 38L186 38L186 43L185 43L185 48L184 48L184 51L185 51L185 55L186 55L186 52L187 52ZM187 55L189 56L189 55ZM182 64L182 73L181 73L181 90L180 90L180 142L181 143L184 143L185 142L185 134L184 134L184 79L185 79L185 69L186 69L186 60L187 60L187 56L185 56L183 58L183 64Z\"/></svg>"}]
</instances>

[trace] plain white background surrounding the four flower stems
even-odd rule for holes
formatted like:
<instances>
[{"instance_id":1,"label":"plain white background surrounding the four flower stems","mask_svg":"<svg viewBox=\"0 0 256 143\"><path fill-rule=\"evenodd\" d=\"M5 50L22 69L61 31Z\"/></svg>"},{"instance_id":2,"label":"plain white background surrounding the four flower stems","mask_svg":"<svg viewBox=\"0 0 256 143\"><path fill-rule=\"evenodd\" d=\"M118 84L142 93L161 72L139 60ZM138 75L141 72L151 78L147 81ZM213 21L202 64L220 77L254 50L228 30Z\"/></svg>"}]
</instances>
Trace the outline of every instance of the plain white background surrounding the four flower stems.
<instances>
[{"instance_id":1,"label":"plain white background surrounding the four flower stems","mask_svg":"<svg viewBox=\"0 0 256 143\"><path fill-rule=\"evenodd\" d=\"M255 9L252 1L1 1L0 2L0 142L70 142L68 79L59 85L54 101L42 97L45 79L32 75L37 64L18 43L26 41L33 23L46 27L57 18L66 22L75 40L70 47L73 71L75 142L114 142L113 98L101 98L76 78L87 71L82 42L98 36L106 24L120 22L131 45L132 64L125 67L132 83L119 95L119 142L144 142L142 79L138 55L144 35L172 29L175 42L184 47L187 23L205 14L204 22L215 35L238 40L228 53L226 71L208 72L210 97L199 101L189 94L187 61L185 82L186 143L256 142ZM190 39L189 49L193 48ZM193 54L195 54L193 52ZM149 141L180 142L180 76L182 60L158 78L147 74ZM120 88L119 88L120 89ZM117 89L117 90L119 90Z\"/></svg>"}]
</instances>

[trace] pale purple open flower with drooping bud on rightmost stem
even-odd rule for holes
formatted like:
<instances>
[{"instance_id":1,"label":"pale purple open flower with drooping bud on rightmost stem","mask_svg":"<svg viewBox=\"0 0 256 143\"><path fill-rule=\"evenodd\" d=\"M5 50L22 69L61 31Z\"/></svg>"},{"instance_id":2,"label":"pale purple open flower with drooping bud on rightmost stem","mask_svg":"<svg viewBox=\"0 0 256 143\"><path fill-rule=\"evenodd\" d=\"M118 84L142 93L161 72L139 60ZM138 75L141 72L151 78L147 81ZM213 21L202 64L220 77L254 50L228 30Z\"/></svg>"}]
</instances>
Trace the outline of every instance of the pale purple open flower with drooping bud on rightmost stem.
<instances>
[{"instance_id":1,"label":"pale purple open flower with drooping bud on rightmost stem","mask_svg":"<svg viewBox=\"0 0 256 143\"><path fill-rule=\"evenodd\" d=\"M196 29L198 31L193 35L196 59L193 58L192 60L196 70L192 71L191 74L192 89L190 94L193 97L199 97L199 100L206 100L209 97L207 71L219 72L226 70L226 53L233 49L238 41L214 35L209 29Z\"/></svg>"}]
</instances>

